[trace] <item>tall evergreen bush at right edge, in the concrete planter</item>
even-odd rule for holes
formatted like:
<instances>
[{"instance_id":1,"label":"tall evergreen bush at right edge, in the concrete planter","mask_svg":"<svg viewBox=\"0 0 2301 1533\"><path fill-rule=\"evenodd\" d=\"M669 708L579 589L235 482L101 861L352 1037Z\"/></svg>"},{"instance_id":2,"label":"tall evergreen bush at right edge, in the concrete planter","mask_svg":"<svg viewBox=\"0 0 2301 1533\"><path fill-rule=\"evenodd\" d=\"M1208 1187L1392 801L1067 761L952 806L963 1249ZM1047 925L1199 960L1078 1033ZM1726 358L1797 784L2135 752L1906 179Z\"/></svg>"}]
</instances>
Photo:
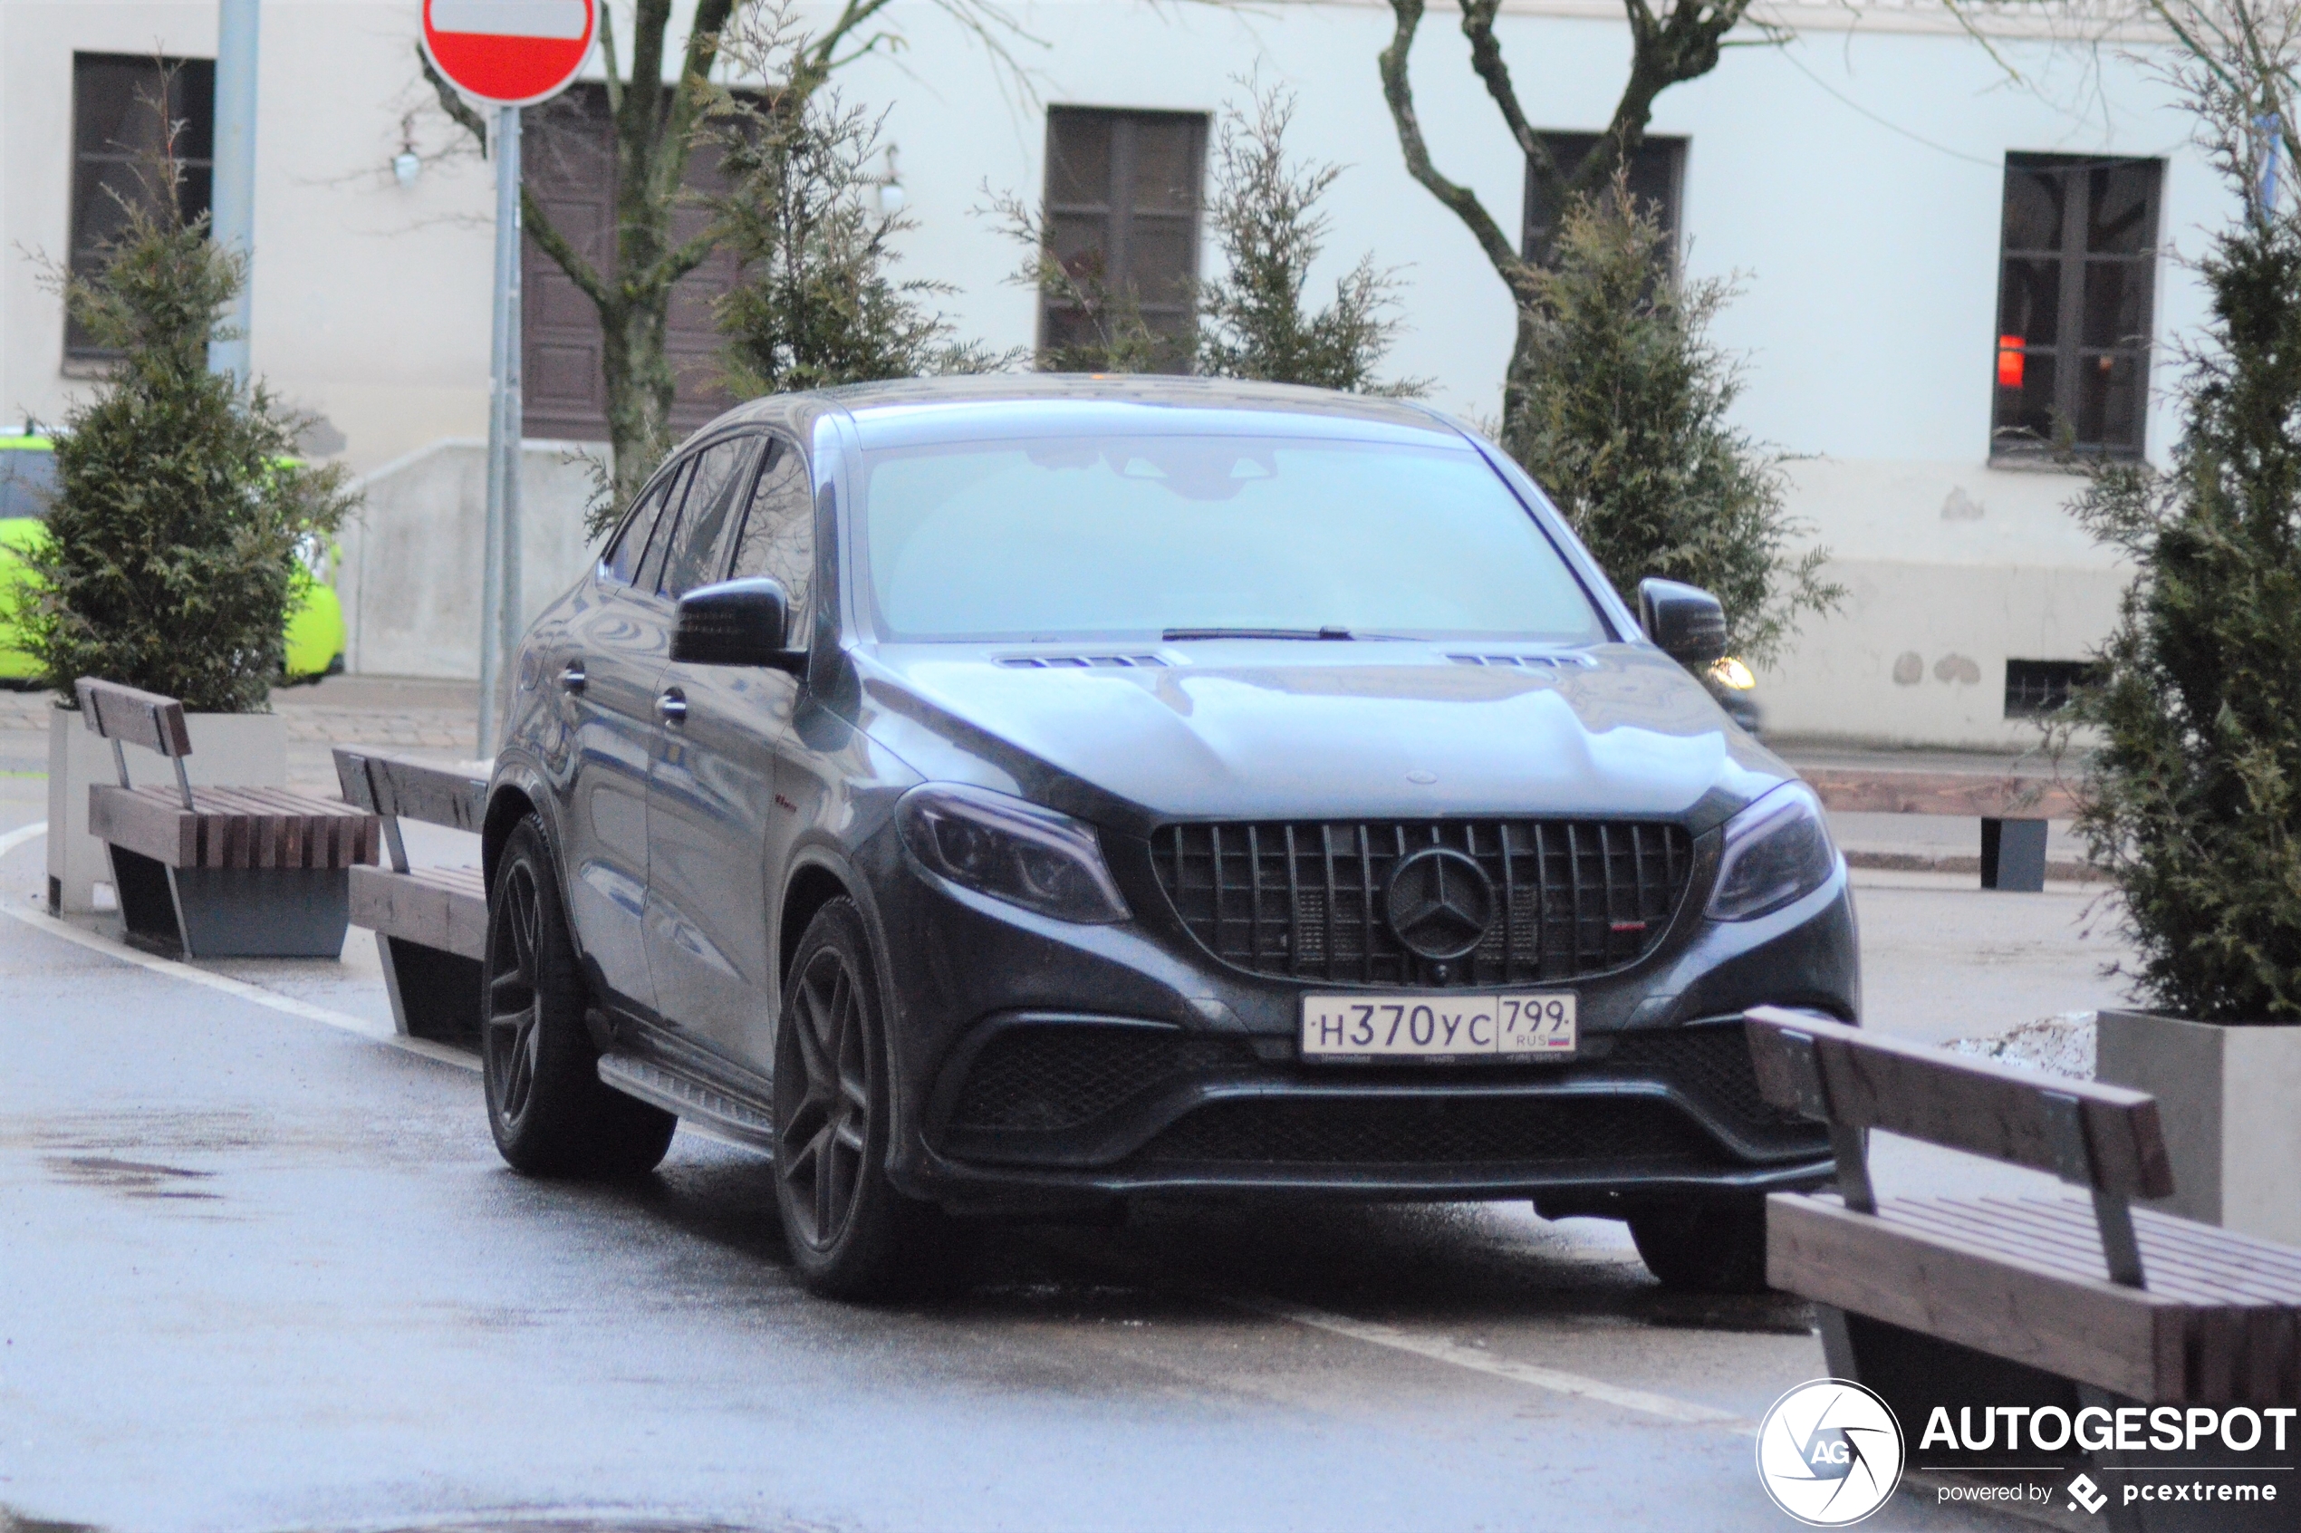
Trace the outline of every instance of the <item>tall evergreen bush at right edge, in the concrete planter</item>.
<instances>
[{"instance_id":1,"label":"tall evergreen bush at right edge, in the concrete planter","mask_svg":"<svg viewBox=\"0 0 2301 1533\"><path fill-rule=\"evenodd\" d=\"M2197 265L2211 320L2170 467L2099 465L2073 506L2138 575L2057 732L2099 732L2076 824L2122 891L2138 999L2301 1022L2301 219L2255 196L2260 106L2188 83L2246 212Z\"/></svg>"}]
</instances>

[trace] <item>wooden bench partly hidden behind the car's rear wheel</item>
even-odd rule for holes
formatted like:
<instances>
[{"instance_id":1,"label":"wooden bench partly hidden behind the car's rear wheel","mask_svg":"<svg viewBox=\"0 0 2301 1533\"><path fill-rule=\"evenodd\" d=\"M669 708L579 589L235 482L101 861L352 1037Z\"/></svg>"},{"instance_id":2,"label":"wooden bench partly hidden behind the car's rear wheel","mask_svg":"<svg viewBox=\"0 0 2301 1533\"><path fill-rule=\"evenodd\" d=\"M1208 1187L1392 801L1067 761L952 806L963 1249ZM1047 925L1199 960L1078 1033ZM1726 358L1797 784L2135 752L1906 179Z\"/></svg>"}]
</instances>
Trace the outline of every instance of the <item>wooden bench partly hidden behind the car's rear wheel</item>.
<instances>
[{"instance_id":1,"label":"wooden bench partly hidden behind the car's rear wheel","mask_svg":"<svg viewBox=\"0 0 2301 1533\"><path fill-rule=\"evenodd\" d=\"M352 925L375 932L403 1036L479 1047L488 884L479 868L410 868L400 819L479 833L488 780L453 766L336 748L343 801L384 826L389 868L352 870Z\"/></svg>"}]
</instances>

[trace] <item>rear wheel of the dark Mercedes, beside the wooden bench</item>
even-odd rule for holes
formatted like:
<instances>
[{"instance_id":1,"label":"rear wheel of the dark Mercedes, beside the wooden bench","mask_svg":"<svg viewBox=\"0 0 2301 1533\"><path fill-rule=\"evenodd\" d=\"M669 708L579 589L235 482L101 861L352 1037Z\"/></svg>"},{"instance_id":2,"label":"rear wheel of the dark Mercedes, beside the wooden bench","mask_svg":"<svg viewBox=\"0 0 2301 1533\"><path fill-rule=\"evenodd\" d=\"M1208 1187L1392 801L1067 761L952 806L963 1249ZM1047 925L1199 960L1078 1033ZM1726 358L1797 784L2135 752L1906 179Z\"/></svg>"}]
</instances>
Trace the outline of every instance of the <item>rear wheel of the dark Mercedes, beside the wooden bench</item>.
<instances>
[{"instance_id":1,"label":"rear wheel of the dark Mercedes, beside the wooden bench","mask_svg":"<svg viewBox=\"0 0 2301 1533\"><path fill-rule=\"evenodd\" d=\"M495 1149L529 1176L644 1176L679 1119L598 1077L584 983L541 822L513 826L488 891L481 1080Z\"/></svg>"}]
</instances>

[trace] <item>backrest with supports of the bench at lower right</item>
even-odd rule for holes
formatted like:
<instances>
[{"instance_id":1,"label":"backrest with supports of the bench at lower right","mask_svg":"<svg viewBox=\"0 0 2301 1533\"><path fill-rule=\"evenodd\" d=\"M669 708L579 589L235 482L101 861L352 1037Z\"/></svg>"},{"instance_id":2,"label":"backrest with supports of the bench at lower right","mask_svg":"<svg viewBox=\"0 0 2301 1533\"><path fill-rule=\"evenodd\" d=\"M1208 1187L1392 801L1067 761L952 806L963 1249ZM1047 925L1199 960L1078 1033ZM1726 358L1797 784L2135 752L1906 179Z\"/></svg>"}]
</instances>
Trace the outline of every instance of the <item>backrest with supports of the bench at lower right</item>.
<instances>
[{"instance_id":1,"label":"backrest with supports of the bench at lower right","mask_svg":"<svg viewBox=\"0 0 2301 1533\"><path fill-rule=\"evenodd\" d=\"M2142 1287L2131 1199L2172 1192L2156 1098L1880 1038L1774 1006L1758 1006L1746 1022L1765 1100L1829 1123L1848 1208L1878 1211L1862 1139L1868 1128L2052 1172L2094 1195L2110 1278Z\"/></svg>"}]
</instances>

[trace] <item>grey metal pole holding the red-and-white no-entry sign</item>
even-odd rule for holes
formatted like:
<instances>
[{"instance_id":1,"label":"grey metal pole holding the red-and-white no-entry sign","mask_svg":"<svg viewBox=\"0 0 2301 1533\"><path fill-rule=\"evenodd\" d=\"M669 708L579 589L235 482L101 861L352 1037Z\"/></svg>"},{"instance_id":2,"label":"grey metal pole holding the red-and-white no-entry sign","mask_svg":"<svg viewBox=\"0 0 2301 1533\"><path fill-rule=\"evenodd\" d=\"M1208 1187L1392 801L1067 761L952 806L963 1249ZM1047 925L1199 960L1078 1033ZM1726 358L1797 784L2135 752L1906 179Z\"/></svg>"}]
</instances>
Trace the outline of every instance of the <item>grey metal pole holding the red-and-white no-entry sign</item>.
<instances>
[{"instance_id":1,"label":"grey metal pole holding the red-and-white no-entry sign","mask_svg":"<svg viewBox=\"0 0 2301 1533\"><path fill-rule=\"evenodd\" d=\"M520 642L520 108L495 110L495 331L488 529L479 594L479 755L495 755L497 693Z\"/></svg>"}]
</instances>

